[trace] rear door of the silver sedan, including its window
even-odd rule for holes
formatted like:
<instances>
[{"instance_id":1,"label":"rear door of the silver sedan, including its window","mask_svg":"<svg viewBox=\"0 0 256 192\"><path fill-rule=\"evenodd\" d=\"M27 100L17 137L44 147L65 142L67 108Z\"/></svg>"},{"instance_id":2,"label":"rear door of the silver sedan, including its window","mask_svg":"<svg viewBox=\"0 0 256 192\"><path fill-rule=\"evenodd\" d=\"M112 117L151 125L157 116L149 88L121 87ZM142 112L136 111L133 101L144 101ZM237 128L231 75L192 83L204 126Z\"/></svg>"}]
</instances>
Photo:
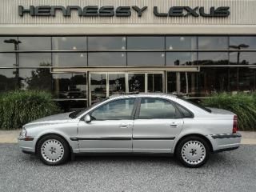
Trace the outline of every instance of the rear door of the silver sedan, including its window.
<instances>
[{"instance_id":1,"label":"rear door of the silver sedan, including its window","mask_svg":"<svg viewBox=\"0 0 256 192\"><path fill-rule=\"evenodd\" d=\"M182 127L182 115L172 102L141 98L134 119L133 151L170 153Z\"/></svg>"}]
</instances>

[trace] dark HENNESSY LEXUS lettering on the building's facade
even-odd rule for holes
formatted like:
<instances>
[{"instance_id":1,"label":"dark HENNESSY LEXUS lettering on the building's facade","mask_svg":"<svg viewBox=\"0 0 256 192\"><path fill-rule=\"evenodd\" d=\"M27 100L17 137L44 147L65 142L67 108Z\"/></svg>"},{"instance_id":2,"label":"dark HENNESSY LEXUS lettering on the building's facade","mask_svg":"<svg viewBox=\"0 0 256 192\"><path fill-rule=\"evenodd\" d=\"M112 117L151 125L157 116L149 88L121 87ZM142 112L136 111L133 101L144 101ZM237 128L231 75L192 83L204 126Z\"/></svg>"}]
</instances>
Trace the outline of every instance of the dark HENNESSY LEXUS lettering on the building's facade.
<instances>
[{"instance_id":1,"label":"dark HENNESSY LEXUS lettering on the building's facade","mask_svg":"<svg viewBox=\"0 0 256 192\"><path fill-rule=\"evenodd\" d=\"M70 17L71 11L76 11L79 17L130 17L131 14L137 14L138 17L146 14L147 6L30 6L24 8L18 6L19 16L29 14L30 16L49 16L54 17L57 11L60 11L64 17ZM206 9L203 6L172 6L166 12L160 12L158 6L153 8L156 17L205 17L219 18L228 17L230 15L229 6L210 7Z\"/></svg>"}]
</instances>

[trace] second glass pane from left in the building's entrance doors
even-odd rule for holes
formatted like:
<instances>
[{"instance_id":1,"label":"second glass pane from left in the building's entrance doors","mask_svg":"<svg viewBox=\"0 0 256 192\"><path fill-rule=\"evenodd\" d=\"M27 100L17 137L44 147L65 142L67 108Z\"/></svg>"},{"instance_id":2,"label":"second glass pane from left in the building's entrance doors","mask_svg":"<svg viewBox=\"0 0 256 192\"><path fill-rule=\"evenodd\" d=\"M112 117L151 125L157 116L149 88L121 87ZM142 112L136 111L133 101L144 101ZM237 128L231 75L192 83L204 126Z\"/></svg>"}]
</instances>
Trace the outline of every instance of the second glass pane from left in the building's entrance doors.
<instances>
[{"instance_id":1,"label":"second glass pane from left in the building's entrance doors","mask_svg":"<svg viewBox=\"0 0 256 192\"><path fill-rule=\"evenodd\" d=\"M126 93L125 74L109 74L110 95Z\"/></svg>"}]
</instances>

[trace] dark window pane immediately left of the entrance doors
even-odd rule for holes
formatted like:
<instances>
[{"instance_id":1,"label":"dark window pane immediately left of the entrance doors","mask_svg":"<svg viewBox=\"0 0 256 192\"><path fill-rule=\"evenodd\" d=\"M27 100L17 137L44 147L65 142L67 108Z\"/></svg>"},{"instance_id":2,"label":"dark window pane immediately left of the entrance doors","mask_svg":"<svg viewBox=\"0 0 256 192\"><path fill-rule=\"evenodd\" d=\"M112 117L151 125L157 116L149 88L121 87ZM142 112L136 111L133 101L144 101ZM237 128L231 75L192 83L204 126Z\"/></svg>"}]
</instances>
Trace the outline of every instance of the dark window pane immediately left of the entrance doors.
<instances>
[{"instance_id":1,"label":"dark window pane immediately left of the entrance doors","mask_svg":"<svg viewBox=\"0 0 256 192\"><path fill-rule=\"evenodd\" d=\"M53 74L55 98L86 98L86 74Z\"/></svg>"}]
</instances>

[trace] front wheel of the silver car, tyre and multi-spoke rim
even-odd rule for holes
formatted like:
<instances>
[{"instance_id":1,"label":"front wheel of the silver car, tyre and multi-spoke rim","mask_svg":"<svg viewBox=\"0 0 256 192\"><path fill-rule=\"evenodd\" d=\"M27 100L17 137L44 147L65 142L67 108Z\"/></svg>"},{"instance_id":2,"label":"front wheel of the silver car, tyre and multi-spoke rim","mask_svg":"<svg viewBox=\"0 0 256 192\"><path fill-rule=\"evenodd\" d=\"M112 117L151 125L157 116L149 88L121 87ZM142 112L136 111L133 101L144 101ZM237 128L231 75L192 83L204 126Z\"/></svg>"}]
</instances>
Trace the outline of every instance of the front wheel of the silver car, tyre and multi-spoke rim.
<instances>
[{"instance_id":1,"label":"front wheel of the silver car, tyre and multi-spoke rim","mask_svg":"<svg viewBox=\"0 0 256 192\"><path fill-rule=\"evenodd\" d=\"M70 146L65 139L50 134L39 140L37 155L47 166L58 166L66 162L70 156Z\"/></svg>"}]
</instances>

